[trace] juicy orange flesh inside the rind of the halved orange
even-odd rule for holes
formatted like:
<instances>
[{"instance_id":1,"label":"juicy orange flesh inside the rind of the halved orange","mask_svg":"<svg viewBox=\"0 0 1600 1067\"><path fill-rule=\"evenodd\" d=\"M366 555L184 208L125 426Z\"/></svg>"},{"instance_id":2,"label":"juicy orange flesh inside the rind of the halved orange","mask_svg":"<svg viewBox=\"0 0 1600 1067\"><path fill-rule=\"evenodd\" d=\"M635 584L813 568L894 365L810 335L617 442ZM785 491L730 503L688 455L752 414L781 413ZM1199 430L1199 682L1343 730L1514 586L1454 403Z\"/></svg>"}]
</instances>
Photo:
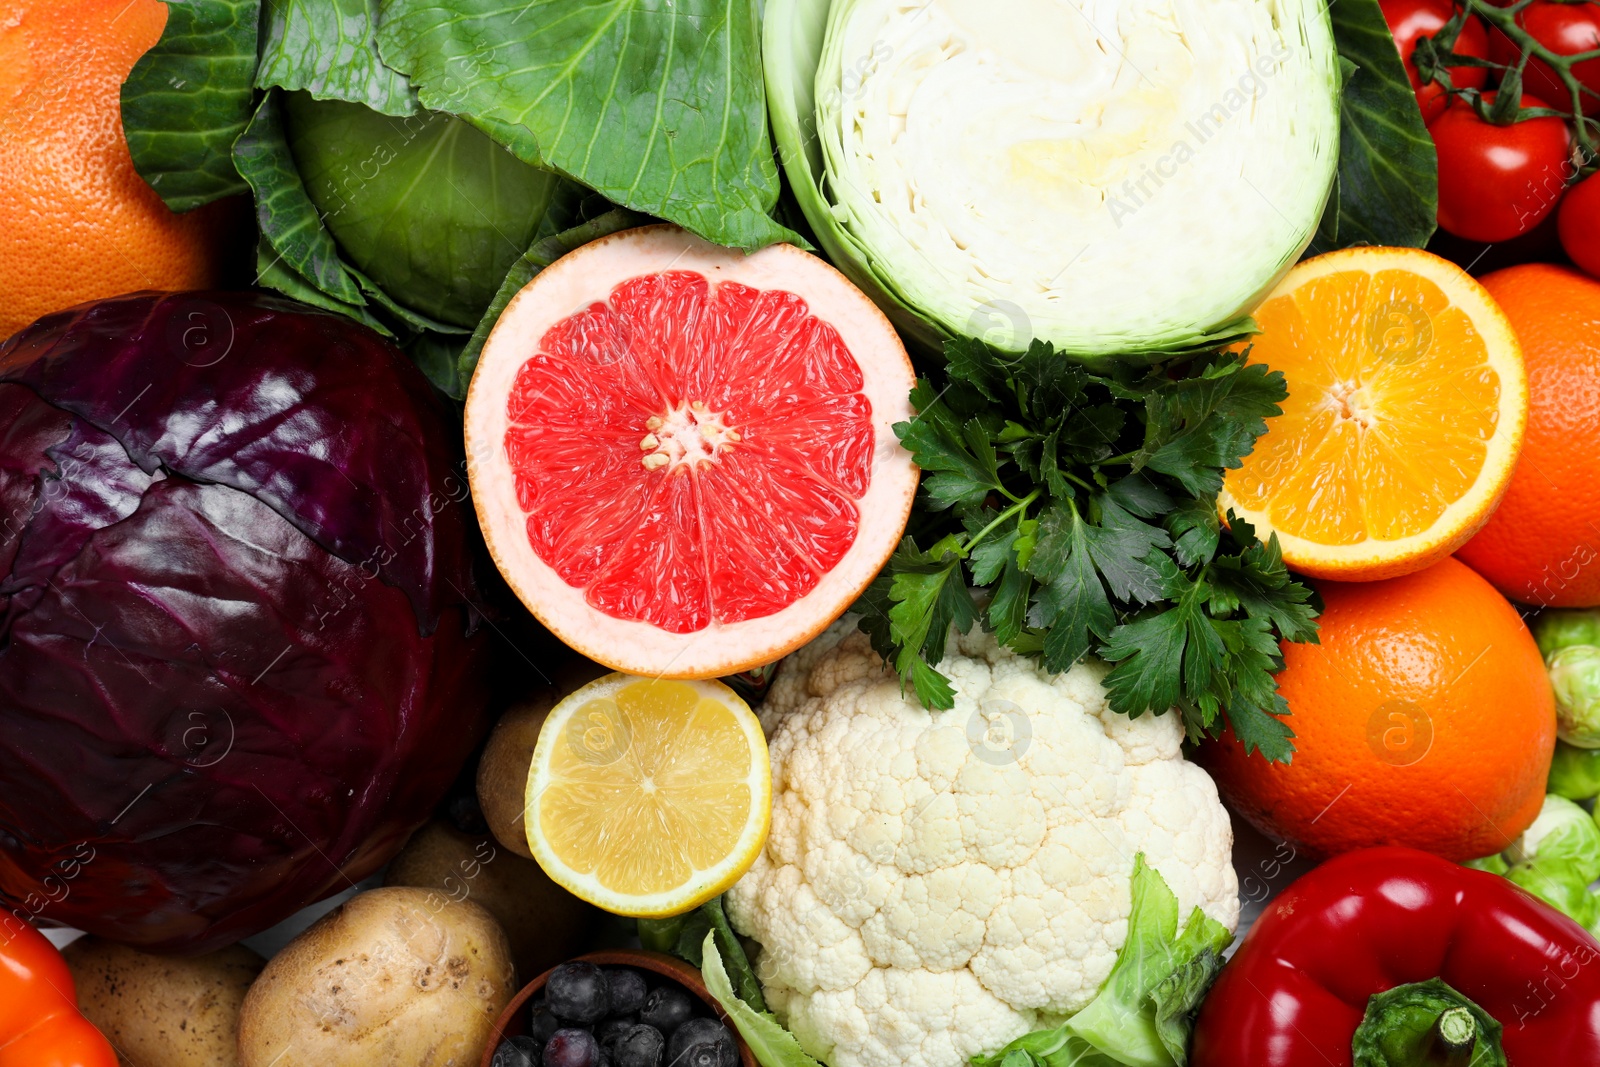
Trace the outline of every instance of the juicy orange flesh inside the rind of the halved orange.
<instances>
[{"instance_id":1,"label":"juicy orange flesh inside the rind of the halved orange","mask_svg":"<svg viewBox=\"0 0 1600 1067\"><path fill-rule=\"evenodd\" d=\"M1499 411L1482 334L1437 285L1342 270L1256 310L1250 360L1280 370L1283 414L1234 499L1288 534L1350 545L1432 526L1477 482Z\"/></svg>"}]
</instances>

